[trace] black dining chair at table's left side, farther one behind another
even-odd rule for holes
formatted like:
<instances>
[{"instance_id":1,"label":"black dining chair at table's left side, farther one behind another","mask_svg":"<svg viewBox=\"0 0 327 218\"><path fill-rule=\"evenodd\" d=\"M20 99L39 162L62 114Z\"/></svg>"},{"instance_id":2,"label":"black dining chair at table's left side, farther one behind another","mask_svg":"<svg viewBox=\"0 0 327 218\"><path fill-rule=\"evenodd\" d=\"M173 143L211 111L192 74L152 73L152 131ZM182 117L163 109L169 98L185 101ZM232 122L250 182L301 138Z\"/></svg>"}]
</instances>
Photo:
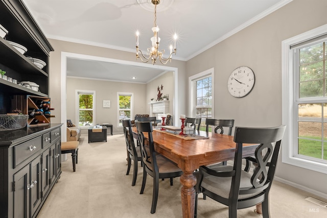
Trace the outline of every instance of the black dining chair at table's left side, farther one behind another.
<instances>
[{"instance_id":1,"label":"black dining chair at table's left side, farther one behind another","mask_svg":"<svg viewBox=\"0 0 327 218\"><path fill-rule=\"evenodd\" d=\"M140 149L140 147L135 147L132 128L131 128L132 127L131 120L123 119L122 123L123 123L123 127L124 127L124 135L125 135L126 148L127 148L127 173L126 173L126 175L129 175L129 171L131 168L131 161L133 160L134 171L133 171L132 186L134 186L136 183L136 177L137 177L138 161L140 161L141 166L143 166L142 157L141 157L141 149Z\"/></svg>"}]
</instances>

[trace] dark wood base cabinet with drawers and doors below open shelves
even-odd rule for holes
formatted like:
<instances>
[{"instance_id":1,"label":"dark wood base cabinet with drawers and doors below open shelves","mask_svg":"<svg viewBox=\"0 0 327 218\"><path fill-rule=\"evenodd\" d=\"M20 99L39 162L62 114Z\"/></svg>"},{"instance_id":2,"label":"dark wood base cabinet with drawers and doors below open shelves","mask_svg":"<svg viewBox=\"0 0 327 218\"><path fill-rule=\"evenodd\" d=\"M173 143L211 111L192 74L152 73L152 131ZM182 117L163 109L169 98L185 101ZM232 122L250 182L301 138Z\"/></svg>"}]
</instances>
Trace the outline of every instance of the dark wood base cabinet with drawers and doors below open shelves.
<instances>
[{"instance_id":1,"label":"dark wood base cabinet with drawers and doors below open shelves","mask_svg":"<svg viewBox=\"0 0 327 218\"><path fill-rule=\"evenodd\" d=\"M61 175L61 125L2 132L0 217L36 217Z\"/></svg>"}]
</instances>

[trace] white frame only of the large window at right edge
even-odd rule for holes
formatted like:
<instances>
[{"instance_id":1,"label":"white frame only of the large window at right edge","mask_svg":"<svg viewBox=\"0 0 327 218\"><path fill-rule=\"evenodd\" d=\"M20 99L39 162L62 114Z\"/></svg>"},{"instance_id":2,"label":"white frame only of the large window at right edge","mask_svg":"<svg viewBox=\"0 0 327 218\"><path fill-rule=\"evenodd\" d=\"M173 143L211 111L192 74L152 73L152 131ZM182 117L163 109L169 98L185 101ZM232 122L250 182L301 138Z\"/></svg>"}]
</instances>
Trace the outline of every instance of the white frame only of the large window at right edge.
<instances>
[{"instance_id":1,"label":"white frame only of the large window at right edge","mask_svg":"<svg viewBox=\"0 0 327 218\"><path fill-rule=\"evenodd\" d=\"M297 110L295 107L296 75L294 72L293 50L291 45L307 41L327 33L327 25L302 33L282 42L282 119L287 125L282 146L282 162L327 174L327 164L314 160L302 159L297 154Z\"/></svg>"}]
</instances>

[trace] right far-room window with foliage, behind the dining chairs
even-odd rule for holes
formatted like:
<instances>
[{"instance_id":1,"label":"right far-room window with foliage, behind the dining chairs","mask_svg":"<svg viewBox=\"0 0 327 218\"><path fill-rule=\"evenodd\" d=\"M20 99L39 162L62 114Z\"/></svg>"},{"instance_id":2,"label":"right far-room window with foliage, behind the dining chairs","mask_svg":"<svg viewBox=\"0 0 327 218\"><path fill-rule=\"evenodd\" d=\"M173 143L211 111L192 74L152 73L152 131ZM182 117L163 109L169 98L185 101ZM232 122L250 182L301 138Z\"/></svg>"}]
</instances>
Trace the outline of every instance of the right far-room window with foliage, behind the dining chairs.
<instances>
[{"instance_id":1,"label":"right far-room window with foliage, behind the dining chairs","mask_svg":"<svg viewBox=\"0 0 327 218\"><path fill-rule=\"evenodd\" d=\"M122 127L122 119L133 116L133 93L118 93L118 126Z\"/></svg>"}]
</instances>

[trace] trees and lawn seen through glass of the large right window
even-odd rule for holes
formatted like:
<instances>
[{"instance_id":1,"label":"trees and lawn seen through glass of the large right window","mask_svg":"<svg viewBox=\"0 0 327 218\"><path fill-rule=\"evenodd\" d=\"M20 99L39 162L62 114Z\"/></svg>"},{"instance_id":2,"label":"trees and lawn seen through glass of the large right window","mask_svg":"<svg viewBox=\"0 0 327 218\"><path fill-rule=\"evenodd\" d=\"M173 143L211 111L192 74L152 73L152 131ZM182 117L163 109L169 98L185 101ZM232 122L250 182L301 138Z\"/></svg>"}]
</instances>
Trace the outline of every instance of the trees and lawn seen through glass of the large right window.
<instances>
[{"instance_id":1,"label":"trees and lawn seen through glass of the large right window","mask_svg":"<svg viewBox=\"0 0 327 218\"><path fill-rule=\"evenodd\" d=\"M327 41L298 49L297 155L327 160Z\"/></svg>"}]
</instances>

